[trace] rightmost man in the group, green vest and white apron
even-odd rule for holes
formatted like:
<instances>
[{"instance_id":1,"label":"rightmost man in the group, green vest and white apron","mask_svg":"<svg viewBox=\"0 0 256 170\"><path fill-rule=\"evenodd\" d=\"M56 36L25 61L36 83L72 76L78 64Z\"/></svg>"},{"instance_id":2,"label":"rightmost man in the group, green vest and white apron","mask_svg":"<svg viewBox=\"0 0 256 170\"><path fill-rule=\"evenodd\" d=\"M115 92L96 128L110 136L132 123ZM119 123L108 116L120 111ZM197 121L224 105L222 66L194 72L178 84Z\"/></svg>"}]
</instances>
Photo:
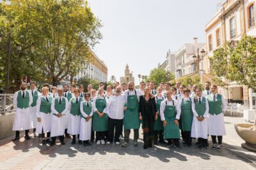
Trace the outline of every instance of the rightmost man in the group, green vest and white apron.
<instances>
[{"instance_id":1,"label":"rightmost man in the group, green vest and white apron","mask_svg":"<svg viewBox=\"0 0 256 170\"><path fill-rule=\"evenodd\" d=\"M226 134L223 111L226 108L226 101L223 96L218 94L218 87L212 85L212 94L206 98L209 103L208 127L209 135L212 137L212 149L222 150L222 136ZM218 137L218 145L216 138Z\"/></svg>"}]
</instances>

